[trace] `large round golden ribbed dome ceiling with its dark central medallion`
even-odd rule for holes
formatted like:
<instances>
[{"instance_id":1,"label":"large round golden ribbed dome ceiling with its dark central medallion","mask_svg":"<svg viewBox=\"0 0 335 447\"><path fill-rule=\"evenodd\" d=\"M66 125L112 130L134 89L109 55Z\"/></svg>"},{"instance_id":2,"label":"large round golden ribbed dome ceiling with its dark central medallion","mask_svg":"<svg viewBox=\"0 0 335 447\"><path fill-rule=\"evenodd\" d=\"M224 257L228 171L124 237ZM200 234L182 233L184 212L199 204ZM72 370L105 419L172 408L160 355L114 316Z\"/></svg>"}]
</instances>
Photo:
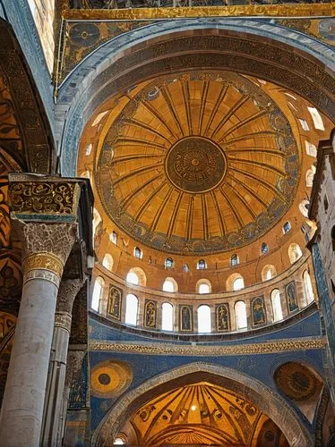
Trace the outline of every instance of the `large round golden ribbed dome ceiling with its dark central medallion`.
<instances>
[{"instance_id":1,"label":"large round golden ribbed dome ceiling with its dark central medallion","mask_svg":"<svg viewBox=\"0 0 335 447\"><path fill-rule=\"evenodd\" d=\"M170 253L241 247L295 196L299 156L288 120L262 89L231 72L146 81L116 100L95 162L107 215Z\"/></svg>"}]
</instances>

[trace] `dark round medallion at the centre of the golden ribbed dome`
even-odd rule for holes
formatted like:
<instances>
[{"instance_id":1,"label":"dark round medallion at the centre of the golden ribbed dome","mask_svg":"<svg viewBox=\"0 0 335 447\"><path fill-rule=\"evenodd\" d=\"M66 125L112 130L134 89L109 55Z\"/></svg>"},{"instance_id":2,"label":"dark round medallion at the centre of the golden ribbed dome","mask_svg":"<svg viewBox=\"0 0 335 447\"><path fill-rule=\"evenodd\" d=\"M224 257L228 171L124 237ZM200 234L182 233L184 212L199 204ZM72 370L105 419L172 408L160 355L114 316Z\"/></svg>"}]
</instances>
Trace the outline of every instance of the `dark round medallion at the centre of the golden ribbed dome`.
<instances>
[{"instance_id":1,"label":"dark round medallion at the centre of the golden ribbed dome","mask_svg":"<svg viewBox=\"0 0 335 447\"><path fill-rule=\"evenodd\" d=\"M165 170L179 190L199 193L212 190L223 180L227 162L221 148L202 137L179 139L168 151Z\"/></svg>"}]
</instances>

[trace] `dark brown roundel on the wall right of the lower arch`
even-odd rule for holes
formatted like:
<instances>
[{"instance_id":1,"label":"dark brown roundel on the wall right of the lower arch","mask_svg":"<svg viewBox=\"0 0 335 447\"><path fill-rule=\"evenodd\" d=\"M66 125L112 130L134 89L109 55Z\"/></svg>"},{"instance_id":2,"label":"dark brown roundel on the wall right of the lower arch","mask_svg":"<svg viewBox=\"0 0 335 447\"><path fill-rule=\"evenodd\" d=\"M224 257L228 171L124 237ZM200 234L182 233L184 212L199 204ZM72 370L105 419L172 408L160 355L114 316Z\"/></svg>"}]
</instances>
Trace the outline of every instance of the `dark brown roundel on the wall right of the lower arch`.
<instances>
[{"instance_id":1,"label":"dark brown roundel on the wall right of the lower arch","mask_svg":"<svg viewBox=\"0 0 335 447\"><path fill-rule=\"evenodd\" d=\"M295 362L281 365L274 374L274 380L279 389L294 401L306 401L317 388L317 378L313 372Z\"/></svg>"}]
</instances>

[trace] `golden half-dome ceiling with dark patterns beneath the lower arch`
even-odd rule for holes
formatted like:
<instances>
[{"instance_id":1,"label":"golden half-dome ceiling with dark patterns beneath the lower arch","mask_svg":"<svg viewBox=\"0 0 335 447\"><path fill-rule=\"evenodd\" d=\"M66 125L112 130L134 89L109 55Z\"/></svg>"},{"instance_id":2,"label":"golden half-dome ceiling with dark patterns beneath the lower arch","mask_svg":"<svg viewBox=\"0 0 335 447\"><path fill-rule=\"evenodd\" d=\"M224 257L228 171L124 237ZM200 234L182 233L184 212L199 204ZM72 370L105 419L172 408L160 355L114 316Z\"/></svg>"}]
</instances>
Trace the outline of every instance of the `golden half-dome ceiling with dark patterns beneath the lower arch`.
<instances>
[{"instance_id":1,"label":"golden half-dome ceiling with dark patterns beneath the lower arch","mask_svg":"<svg viewBox=\"0 0 335 447\"><path fill-rule=\"evenodd\" d=\"M134 413L130 422L135 445L288 445L260 409L208 382L161 394Z\"/></svg>"}]
</instances>

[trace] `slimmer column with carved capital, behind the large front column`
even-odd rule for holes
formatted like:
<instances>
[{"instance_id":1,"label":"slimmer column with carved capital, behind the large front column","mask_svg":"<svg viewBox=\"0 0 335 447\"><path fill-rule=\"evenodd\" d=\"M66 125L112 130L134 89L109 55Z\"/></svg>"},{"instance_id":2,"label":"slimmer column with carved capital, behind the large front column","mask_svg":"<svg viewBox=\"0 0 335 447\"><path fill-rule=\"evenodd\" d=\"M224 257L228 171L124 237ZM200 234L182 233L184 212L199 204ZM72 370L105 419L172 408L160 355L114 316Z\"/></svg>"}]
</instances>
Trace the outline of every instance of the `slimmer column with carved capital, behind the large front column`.
<instances>
[{"instance_id":1,"label":"slimmer column with carved capital, behind the large front column","mask_svg":"<svg viewBox=\"0 0 335 447\"><path fill-rule=\"evenodd\" d=\"M47 378L42 445L61 445L61 436L58 432L63 430L60 419L63 416L66 359L71 333L73 302L82 283L80 279L63 280L58 291Z\"/></svg>"}]
</instances>

